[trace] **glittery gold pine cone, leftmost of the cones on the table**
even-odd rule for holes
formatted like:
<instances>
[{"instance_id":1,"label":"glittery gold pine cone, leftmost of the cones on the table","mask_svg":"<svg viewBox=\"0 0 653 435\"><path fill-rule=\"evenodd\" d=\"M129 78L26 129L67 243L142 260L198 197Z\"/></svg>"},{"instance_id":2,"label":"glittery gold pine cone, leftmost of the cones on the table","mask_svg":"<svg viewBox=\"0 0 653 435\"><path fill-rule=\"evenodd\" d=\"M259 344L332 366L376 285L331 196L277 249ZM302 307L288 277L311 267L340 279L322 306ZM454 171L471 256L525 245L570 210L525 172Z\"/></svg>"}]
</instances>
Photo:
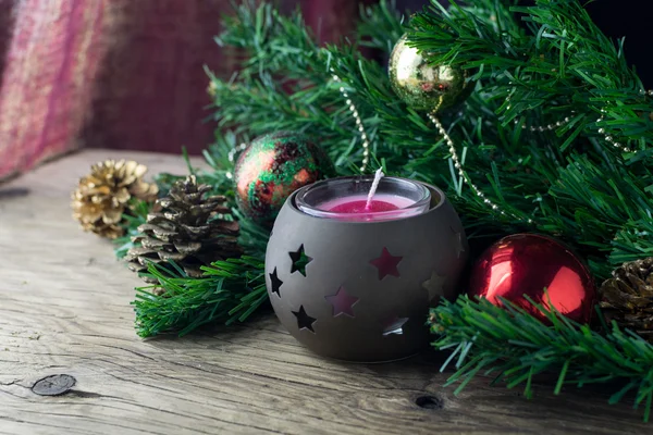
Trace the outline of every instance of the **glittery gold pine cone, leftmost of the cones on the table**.
<instances>
[{"instance_id":1,"label":"glittery gold pine cone, leftmost of the cones on the table","mask_svg":"<svg viewBox=\"0 0 653 435\"><path fill-rule=\"evenodd\" d=\"M141 178L146 172L147 166L134 161L94 164L72 195L73 217L84 231L111 239L122 236L120 223L130 199L151 202L157 198L157 185Z\"/></svg>"}]
</instances>

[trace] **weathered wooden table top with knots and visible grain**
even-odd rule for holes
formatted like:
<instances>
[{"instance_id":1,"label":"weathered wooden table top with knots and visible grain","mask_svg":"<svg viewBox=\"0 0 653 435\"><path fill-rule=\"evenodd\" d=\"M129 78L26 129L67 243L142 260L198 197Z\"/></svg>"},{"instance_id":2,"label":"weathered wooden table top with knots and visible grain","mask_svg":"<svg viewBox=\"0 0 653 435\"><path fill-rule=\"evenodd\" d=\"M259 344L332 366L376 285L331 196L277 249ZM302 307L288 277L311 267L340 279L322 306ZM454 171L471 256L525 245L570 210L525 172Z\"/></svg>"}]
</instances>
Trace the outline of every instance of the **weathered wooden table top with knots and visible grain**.
<instances>
[{"instance_id":1,"label":"weathered wooden table top with knots and visible grain","mask_svg":"<svg viewBox=\"0 0 653 435\"><path fill-rule=\"evenodd\" d=\"M89 165L132 158L184 172L177 156L84 151L0 185L0 434L651 434L609 391L535 398L473 381L443 388L434 351L344 364L303 348L267 312L230 328L141 340L130 302L140 281L110 243L71 219ZM33 393L48 375L71 391ZM421 403L420 407L418 403Z\"/></svg>"}]
</instances>

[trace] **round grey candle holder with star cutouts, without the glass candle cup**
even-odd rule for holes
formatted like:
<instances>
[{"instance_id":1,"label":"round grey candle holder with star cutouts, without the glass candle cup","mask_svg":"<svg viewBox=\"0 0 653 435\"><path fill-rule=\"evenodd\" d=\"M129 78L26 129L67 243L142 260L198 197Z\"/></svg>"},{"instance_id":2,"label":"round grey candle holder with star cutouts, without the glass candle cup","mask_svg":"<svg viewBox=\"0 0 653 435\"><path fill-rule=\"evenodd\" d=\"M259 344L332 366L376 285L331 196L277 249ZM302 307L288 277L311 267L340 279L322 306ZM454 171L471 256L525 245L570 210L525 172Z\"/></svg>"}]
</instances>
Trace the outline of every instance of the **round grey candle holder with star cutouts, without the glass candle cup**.
<instances>
[{"instance_id":1,"label":"round grey candle holder with star cutouts, without the glass candle cup","mask_svg":"<svg viewBox=\"0 0 653 435\"><path fill-rule=\"evenodd\" d=\"M416 216L346 222L284 203L266 254L268 294L281 323L316 353L392 361L429 344L429 307L457 295L467 260L458 214L436 187Z\"/></svg>"}]
</instances>

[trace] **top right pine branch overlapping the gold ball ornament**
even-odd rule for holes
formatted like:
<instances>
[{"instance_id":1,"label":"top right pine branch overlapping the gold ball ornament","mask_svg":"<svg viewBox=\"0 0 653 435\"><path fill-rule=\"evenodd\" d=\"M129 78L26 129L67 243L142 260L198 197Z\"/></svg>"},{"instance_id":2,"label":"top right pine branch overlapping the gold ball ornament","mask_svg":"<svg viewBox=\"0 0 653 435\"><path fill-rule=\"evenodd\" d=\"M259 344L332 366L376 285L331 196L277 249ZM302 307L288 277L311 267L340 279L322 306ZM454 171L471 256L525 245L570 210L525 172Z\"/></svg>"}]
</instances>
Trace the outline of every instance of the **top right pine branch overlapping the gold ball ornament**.
<instances>
[{"instance_id":1,"label":"top right pine branch overlapping the gold ball ornament","mask_svg":"<svg viewBox=\"0 0 653 435\"><path fill-rule=\"evenodd\" d=\"M643 85L626 62L624 40L607 38L579 1L538 0L534 7L505 2L498 8L493 0L468 3L470 8L460 8L452 0L448 10L434 7L418 14L411 22L411 40L434 63L479 69L477 78L494 97L509 95L512 102L502 101L496 111L504 125L537 108L544 116L576 111L583 116L575 127L596 137L595 121L603 113L606 134L638 141L634 148L642 150L653 142L651 100L641 94ZM478 10L492 11L490 20ZM518 14L529 32L517 25Z\"/></svg>"}]
</instances>

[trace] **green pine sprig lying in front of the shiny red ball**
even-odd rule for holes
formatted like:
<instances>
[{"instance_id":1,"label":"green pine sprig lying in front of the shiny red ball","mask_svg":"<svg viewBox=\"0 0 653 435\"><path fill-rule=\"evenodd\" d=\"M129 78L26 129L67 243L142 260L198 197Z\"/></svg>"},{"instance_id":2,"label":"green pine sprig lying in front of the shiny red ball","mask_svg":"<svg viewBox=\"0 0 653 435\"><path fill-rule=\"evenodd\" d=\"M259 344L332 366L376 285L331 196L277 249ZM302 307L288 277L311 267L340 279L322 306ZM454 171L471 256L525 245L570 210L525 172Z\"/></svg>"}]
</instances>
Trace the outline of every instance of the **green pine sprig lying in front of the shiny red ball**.
<instances>
[{"instance_id":1,"label":"green pine sprig lying in front of the shiny red ball","mask_svg":"<svg viewBox=\"0 0 653 435\"><path fill-rule=\"evenodd\" d=\"M617 382L620 387L609 403L633 393L634 407L643 407L644 421L649 421L653 345L630 331L621 331L616 323L604 325L606 332L600 333L532 301L544 313L545 322L509 301L502 303L497 307L486 299L460 296L455 302L444 301L431 310L431 332L439 336L433 346L452 351L442 370L455 368L446 384L459 384L455 394L482 374L508 388L523 386L525 395L531 397L535 376L557 373L556 395L566 385Z\"/></svg>"}]
</instances>

